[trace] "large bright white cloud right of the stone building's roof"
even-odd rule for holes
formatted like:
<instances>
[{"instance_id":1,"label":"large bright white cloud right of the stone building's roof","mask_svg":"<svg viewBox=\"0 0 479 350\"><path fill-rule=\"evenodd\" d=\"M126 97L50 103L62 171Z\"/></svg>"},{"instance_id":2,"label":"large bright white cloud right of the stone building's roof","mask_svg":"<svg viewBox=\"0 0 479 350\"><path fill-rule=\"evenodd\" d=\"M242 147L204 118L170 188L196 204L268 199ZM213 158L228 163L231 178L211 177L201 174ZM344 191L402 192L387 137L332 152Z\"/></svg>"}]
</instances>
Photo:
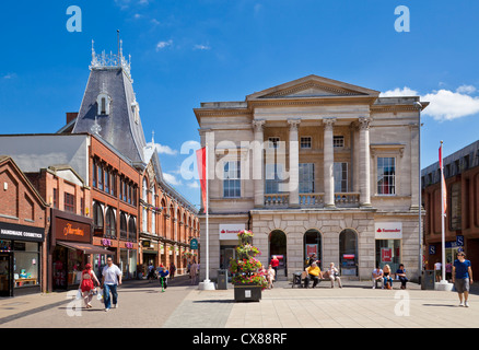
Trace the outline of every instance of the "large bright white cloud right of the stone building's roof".
<instances>
[{"instance_id":1,"label":"large bright white cloud right of the stone building's roof","mask_svg":"<svg viewBox=\"0 0 479 350\"><path fill-rule=\"evenodd\" d=\"M477 89L472 85L462 85L451 91L441 89L425 95L420 95L416 90L408 86L396 88L381 93L381 97L393 96L420 96L421 101L429 102L429 106L422 112L435 120L454 120L479 113L479 97L470 96Z\"/></svg>"}]
</instances>

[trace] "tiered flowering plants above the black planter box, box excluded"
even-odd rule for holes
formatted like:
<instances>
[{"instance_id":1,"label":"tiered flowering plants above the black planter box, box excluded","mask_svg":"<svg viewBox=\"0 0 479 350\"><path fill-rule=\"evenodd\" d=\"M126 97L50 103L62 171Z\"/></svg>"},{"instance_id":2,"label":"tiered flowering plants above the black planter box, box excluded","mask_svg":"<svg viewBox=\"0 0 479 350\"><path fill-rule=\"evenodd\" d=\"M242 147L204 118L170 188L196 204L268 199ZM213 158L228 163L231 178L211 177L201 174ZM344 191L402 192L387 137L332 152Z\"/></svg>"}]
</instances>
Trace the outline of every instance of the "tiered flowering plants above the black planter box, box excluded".
<instances>
[{"instance_id":1,"label":"tiered flowering plants above the black planter box, box excluded","mask_svg":"<svg viewBox=\"0 0 479 350\"><path fill-rule=\"evenodd\" d=\"M232 282L238 284L257 284L261 289L268 287L261 269L261 262L255 258L261 252L254 245L253 232L244 230L238 232L240 244L236 247L237 258L230 260L230 272L233 275Z\"/></svg>"}]
</instances>

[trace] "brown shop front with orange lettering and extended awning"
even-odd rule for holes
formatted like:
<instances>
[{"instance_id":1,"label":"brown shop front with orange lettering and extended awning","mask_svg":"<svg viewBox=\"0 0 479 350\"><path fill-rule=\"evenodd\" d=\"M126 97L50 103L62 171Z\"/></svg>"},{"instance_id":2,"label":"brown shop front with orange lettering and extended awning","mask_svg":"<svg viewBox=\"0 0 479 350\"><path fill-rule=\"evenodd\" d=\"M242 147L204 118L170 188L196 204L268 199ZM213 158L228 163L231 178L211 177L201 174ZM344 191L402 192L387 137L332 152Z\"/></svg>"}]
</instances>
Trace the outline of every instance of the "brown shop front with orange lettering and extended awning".
<instances>
[{"instance_id":1,"label":"brown shop front with orange lettering and extended awning","mask_svg":"<svg viewBox=\"0 0 479 350\"><path fill-rule=\"evenodd\" d=\"M91 228L90 218L51 210L51 290L77 289L84 266L94 262L96 255L109 253L91 244ZM94 269L94 272L98 273L98 270Z\"/></svg>"}]
</instances>

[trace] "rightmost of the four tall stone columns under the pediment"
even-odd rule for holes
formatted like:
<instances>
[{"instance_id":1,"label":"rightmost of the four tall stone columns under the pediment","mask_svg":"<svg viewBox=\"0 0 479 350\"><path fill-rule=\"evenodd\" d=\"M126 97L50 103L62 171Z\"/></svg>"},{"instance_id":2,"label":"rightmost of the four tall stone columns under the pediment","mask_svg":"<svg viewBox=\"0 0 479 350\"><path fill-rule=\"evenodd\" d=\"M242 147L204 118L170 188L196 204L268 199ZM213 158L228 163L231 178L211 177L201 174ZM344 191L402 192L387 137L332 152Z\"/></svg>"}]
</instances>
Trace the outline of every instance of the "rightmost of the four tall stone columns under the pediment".
<instances>
[{"instance_id":1,"label":"rightmost of the four tall stone columns under the pediment","mask_svg":"<svg viewBox=\"0 0 479 350\"><path fill-rule=\"evenodd\" d=\"M371 207L370 117L360 117L360 206Z\"/></svg>"}]
</instances>

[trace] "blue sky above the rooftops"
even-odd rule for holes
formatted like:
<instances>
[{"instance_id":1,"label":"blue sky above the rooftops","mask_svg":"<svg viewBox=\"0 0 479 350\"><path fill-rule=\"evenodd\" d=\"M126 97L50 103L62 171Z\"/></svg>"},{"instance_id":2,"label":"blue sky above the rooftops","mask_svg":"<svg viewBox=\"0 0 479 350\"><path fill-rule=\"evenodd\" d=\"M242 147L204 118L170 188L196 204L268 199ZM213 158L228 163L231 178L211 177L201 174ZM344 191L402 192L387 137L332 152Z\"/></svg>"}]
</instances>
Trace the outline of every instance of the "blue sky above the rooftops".
<instances>
[{"instance_id":1,"label":"blue sky above the rooftops","mask_svg":"<svg viewBox=\"0 0 479 350\"><path fill-rule=\"evenodd\" d=\"M82 10L70 33L67 9ZM410 32L395 31L395 9L410 11ZM78 112L91 61L132 56L133 88L147 139L166 150L162 167L182 179L180 145L199 141L192 108L317 74L385 93L414 93L432 104L422 116L422 167L476 141L479 129L479 2L407 0L63 0L3 4L0 12L1 133L55 132ZM432 107L434 105L435 107Z\"/></svg>"}]
</instances>

